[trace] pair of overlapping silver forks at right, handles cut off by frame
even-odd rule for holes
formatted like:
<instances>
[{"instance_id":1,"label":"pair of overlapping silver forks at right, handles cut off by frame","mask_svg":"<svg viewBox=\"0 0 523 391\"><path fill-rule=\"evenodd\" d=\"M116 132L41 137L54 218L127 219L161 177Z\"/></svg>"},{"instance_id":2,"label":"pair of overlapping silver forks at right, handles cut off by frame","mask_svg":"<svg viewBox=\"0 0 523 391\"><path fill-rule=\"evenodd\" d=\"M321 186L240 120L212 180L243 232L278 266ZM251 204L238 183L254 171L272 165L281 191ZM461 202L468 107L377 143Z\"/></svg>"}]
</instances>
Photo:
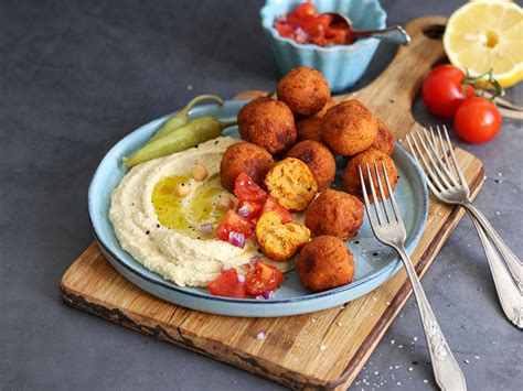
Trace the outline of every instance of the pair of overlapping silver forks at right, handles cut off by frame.
<instances>
[{"instance_id":1,"label":"pair of overlapping silver forks at right, handles cut off by frame","mask_svg":"<svg viewBox=\"0 0 523 391\"><path fill-rule=\"evenodd\" d=\"M442 132L439 126L436 129L437 135L431 128L407 134L410 152L424 167L434 195L444 203L460 205L467 210L489 260L501 307L516 327L523 328L523 264L483 214L470 203L470 189L459 167L447 128L444 126ZM450 163L449 154L453 164Z\"/></svg>"}]
</instances>

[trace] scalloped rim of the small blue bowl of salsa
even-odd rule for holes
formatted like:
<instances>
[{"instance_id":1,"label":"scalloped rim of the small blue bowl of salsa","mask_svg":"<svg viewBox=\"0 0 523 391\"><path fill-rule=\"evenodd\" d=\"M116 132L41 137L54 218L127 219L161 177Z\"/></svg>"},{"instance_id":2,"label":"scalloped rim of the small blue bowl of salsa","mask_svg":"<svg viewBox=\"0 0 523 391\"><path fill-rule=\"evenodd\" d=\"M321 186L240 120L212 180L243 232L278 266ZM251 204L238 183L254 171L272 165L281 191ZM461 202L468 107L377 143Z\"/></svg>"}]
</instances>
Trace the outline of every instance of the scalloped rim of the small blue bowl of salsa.
<instances>
[{"instance_id":1,"label":"scalloped rim of the small blue bowl of salsa","mask_svg":"<svg viewBox=\"0 0 523 391\"><path fill-rule=\"evenodd\" d=\"M377 29L385 29L386 28L386 20L387 20L387 13L385 10L382 8L378 1L375 2L369 2L369 4L374 6L374 10L377 11L378 14L378 28ZM332 45L332 46L318 46L312 43L308 44L302 44L298 43L295 40L291 40L289 37L284 37L279 35L279 33L276 31L276 29L273 26L274 20L269 23L268 21L268 15L267 15L267 9L271 8L274 4L265 3L265 6L262 8L259 11L259 14L262 15L262 26L270 33L270 35L279 42L287 43L296 48L299 50L306 50L309 52L321 52L321 53L333 53L333 52L352 52L356 51L365 45L370 45L371 43L375 42L376 39L361 39L356 40L354 43L351 43L350 45Z\"/></svg>"}]
</instances>

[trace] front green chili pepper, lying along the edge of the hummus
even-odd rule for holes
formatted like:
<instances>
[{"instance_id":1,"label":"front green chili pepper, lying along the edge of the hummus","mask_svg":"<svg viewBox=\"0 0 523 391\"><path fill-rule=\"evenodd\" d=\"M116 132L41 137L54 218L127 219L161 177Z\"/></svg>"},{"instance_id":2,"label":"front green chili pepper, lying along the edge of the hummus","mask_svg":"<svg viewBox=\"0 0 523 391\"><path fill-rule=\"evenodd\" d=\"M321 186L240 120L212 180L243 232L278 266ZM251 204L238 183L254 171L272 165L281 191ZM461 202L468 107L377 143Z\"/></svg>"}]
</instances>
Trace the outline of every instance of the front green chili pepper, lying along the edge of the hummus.
<instances>
[{"instance_id":1,"label":"front green chili pepper, lying along the edge of the hummus","mask_svg":"<svg viewBox=\"0 0 523 391\"><path fill-rule=\"evenodd\" d=\"M143 145L130 156L124 158L124 164L130 169L152 159L188 150L201 142L217 138L223 129L234 124L236 120L221 122L209 116L193 119L169 134Z\"/></svg>"}]
</instances>

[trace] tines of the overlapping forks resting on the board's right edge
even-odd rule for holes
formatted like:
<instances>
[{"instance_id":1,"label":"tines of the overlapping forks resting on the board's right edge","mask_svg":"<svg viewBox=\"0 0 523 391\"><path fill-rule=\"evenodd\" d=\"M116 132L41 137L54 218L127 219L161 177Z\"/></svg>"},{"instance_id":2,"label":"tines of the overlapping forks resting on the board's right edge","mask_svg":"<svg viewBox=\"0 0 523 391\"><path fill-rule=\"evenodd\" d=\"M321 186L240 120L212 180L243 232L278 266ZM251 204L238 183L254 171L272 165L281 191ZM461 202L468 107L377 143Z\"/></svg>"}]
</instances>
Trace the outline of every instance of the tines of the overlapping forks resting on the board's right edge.
<instances>
[{"instance_id":1,"label":"tines of the overlapping forks resting on the board's right edge","mask_svg":"<svg viewBox=\"0 0 523 391\"><path fill-rule=\"evenodd\" d=\"M442 126L442 132L439 126L436 129L437 135L431 127L428 130L414 129L410 134L407 134L410 153L419 165L423 163L427 184L435 194L455 187L462 187L468 193L467 181L458 165L447 127ZM441 133L445 134L445 141ZM450 163L449 154L453 164Z\"/></svg>"}]
</instances>

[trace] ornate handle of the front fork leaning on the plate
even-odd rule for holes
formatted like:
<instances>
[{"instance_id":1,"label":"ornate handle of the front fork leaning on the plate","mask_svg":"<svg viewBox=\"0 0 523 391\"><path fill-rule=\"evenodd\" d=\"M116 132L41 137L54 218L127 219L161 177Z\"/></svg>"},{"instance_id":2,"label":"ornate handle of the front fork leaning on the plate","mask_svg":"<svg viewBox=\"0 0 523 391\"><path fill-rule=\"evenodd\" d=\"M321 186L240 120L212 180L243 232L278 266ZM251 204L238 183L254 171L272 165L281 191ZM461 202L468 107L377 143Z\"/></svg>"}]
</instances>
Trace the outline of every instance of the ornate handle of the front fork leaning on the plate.
<instances>
[{"instance_id":1,"label":"ornate handle of the front fork leaning on the plate","mask_svg":"<svg viewBox=\"0 0 523 391\"><path fill-rule=\"evenodd\" d=\"M463 373L459 368L458 361L452 355L447 340L441 333L441 328L436 321L433 308L428 304L421 283L419 282L416 270L410 262L405 248L397 247L397 252L403 260L403 264L407 271L410 284L413 285L414 295L418 303L419 317L421 318L425 339L427 340L430 360L433 361L433 370L436 382L441 390L467 390Z\"/></svg>"}]
</instances>

